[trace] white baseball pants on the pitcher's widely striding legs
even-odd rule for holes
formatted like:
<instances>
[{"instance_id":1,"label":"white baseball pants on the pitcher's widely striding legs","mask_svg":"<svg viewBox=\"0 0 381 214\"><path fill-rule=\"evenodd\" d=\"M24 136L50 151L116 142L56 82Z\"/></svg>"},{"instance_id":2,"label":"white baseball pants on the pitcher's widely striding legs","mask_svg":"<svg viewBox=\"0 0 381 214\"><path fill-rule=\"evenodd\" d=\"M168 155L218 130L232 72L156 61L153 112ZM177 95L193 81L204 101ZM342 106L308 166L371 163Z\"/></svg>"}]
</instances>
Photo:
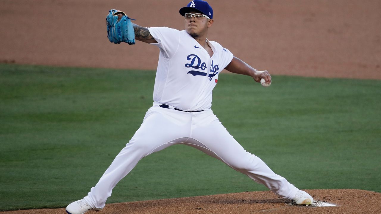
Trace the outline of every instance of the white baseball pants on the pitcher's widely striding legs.
<instances>
[{"instance_id":1,"label":"white baseball pants on the pitcher's widely striding legs","mask_svg":"<svg viewBox=\"0 0 381 214\"><path fill-rule=\"evenodd\" d=\"M147 111L130 142L84 197L85 200L92 208L103 208L112 189L139 160L174 144L199 149L287 200L291 200L298 190L285 178L271 171L260 158L243 149L212 110L181 112L154 105Z\"/></svg>"}]
</instances>

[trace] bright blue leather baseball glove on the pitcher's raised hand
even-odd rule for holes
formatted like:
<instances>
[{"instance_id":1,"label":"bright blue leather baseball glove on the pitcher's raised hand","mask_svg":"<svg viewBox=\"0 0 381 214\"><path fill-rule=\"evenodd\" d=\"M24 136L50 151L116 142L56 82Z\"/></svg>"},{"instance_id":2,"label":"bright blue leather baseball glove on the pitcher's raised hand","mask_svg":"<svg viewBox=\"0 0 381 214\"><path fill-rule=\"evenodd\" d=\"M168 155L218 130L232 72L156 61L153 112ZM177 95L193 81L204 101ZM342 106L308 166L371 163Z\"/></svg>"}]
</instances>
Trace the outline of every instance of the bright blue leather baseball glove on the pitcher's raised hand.
<instances>
[{"instance_id":1,"label":"bright blue leather baseball glove on the pitcher's raised hand","mask_svg":"<svg viewBox=\"0 0 381 214\"><path fill-rule=\"evenodd\" d=\"M119 44L126 42L128 45L135 44L134 27L132 26L131 19L125 12L111 9L106 16L107 37L110 42Z\"/></svg>"}]
</instances>

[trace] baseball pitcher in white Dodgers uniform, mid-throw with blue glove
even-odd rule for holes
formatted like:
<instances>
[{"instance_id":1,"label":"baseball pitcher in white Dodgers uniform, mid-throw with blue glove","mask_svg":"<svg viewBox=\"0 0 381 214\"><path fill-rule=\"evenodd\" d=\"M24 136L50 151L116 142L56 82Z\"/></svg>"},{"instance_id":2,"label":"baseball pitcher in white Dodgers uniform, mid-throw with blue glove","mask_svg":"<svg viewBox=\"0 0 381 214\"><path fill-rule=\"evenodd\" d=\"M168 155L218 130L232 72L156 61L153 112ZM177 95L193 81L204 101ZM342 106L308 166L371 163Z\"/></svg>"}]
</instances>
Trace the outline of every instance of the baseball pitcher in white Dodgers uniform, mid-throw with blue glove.
<instances>
[{"instance_id":1,"label":"baseball pitcher in white Dodgers uniform, mid-throw with blue glove","mask_svg":"<svg viewBox=\"0 0 381 214\"><path fill-rule=\"evenodd\" d=\"M83 214L103 209L112 189L139 160L174 144L199 149L286 200L299 205L311 204L311 195L275 174L260 158L243 149L211 110L212 90L223 69L248 75L256 82L263 79L267 85L271 83L270 74L253 69L219 43L207 39L214 22L213 10L207 2L191 1L179 13L184 18L184 30L141 27L133 24L124 12L110 10L107 16L110 42L133 45L138 40L160 49L154 102L140 128L98 183L83 199L69 204L66 212Z\"/></svg>"}]
</instances>

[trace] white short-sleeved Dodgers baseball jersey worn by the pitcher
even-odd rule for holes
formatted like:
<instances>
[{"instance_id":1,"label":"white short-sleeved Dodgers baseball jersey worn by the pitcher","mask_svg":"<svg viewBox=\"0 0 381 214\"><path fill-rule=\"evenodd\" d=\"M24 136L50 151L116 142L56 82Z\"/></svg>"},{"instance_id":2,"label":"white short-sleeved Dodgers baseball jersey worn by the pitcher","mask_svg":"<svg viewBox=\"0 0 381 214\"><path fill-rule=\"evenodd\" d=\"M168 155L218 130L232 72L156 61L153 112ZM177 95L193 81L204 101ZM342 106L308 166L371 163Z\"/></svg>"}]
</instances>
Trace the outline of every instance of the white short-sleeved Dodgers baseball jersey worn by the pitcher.
<instances>
[{"instance_id":1,"label":"white short-sleeved Dodgers baseball jersey worn by the pitcher","mask_svg":"<svg viewBox=\"0 0 381 214\"><path fill-rule=\"evenodd\" d=\"M210 109L212 90L218 74L233 59L219 43L208 41L213 56L185 30L149 27L160 48L154 86L156 104L167 104L184 111ZM154 104L155 104L154 102Z\"/></svg>"}]
</instances>

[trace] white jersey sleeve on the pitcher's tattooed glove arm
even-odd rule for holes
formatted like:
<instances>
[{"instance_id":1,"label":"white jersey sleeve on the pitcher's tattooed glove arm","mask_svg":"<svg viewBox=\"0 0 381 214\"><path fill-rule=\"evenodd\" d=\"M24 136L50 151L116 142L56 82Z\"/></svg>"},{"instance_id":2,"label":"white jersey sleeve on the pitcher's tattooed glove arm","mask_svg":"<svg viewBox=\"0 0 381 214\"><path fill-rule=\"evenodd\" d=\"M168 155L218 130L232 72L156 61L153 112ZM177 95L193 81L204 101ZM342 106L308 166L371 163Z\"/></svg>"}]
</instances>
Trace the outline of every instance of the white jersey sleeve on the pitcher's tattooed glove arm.
<instances>
[{"instance_id":1,"label":"white jersey sleeve on the pitcher's tattooed glove arm","mask_svg":"<svg viewBox=\"0 0 381 214\"><path fill-rule=\"evenodd\" d=\"M171 58L179 47L180 31L169 27L148 27L147 29L157 41L151 44L158 46L166 58Z\"/></svg>"}]
</instances>

